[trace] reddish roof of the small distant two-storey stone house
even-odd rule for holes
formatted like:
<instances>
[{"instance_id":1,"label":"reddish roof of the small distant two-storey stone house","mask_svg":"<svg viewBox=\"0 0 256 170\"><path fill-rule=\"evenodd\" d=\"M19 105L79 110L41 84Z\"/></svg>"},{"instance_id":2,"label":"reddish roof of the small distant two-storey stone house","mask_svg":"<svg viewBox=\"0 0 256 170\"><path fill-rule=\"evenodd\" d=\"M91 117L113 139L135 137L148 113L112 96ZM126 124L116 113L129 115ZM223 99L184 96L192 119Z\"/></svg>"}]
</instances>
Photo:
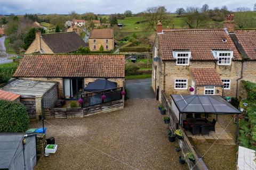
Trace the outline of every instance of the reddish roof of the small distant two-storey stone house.
<instances>
[{"instance_id":1,"label":"reddish roof of the small distant two-storey stone house","mask_svg":"<svg viewBox=\"0 0 256 170\"><path fill-rule=\"evenodd\" d=\"M113 29L93 29L90 38L114 38Z\"/></svg>"}]
</instances>

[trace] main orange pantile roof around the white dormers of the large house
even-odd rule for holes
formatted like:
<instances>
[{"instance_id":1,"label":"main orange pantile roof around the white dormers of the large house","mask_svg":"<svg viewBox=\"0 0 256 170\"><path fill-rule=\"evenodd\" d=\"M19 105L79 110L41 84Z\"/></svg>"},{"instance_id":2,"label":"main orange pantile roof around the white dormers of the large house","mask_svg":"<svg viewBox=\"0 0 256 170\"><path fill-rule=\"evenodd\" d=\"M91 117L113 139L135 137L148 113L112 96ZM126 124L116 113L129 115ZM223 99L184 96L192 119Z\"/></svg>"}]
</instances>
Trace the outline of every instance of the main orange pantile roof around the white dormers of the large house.
<instances>
[{"instance_id":1,"label":"main orange pantile roof around the white dormers of the large house","mask_svg":"<svg viewBox=\"0 0 256 170\"><path fill-rule=\"evenodd\" d=\"M242 60L232 39L223 29L169 29L158 37L162 60L174 60L172 52L175 50L190 50L191 60L215 60L211 50L233 50L233 60Z\"/></svg>"}]
</instances>

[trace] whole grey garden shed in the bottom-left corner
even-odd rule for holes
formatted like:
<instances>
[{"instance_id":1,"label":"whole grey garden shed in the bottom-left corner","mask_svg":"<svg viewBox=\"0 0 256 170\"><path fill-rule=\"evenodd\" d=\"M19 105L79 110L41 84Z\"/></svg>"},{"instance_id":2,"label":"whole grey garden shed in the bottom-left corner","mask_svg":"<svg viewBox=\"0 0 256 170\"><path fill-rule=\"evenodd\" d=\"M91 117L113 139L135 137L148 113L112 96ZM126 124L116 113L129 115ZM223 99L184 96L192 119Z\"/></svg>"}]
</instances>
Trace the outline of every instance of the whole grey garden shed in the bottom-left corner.
<instances>
[{"instance_id":1,"label":"whole grey garden shed in the bottom-left corner","mask_svg":"<svg viewBox=\"0 0 256 170\"><path fill-rule=\"evenodd\" d=\"M36 134L1 133L0 169L31 170L36 165Z\"/></svg>"}]
</instances>

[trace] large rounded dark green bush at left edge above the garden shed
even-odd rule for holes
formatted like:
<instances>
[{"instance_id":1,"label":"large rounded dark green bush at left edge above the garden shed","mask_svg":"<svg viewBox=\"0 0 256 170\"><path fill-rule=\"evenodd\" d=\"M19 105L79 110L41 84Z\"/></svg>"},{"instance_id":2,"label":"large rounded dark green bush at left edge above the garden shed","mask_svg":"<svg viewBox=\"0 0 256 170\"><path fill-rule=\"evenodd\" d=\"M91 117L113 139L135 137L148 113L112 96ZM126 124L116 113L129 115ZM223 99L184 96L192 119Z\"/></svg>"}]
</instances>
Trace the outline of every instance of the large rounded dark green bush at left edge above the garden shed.
<instances>
[{"instance_id":1,"label":"large rounded dark green bush at left edge above the garden shed","mask_svg":"<svg viewBox=\"0 0 256 170\"><path fill-rule=\"evenodd\" d=\"M0 132L25 132L28 125L29 116L23 104L0 100Z\"/></svg>"}]
</instances>

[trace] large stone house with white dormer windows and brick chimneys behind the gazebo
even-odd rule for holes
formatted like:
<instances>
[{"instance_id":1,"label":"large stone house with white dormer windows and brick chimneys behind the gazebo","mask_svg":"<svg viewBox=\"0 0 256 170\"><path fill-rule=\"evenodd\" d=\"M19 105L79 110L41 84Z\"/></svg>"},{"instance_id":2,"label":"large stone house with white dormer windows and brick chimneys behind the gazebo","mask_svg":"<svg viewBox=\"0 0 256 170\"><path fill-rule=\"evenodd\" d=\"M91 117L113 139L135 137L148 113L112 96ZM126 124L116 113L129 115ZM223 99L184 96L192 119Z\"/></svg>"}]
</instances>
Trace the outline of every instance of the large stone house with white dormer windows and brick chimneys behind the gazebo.
<instances>
[{"instance_id":1,"label":"large stone house with white dormer windows and brick chimneys behind the gazebo","mask_svg":"<svg viewBox=\"0 0 256 170\"><path fill-rule=\"evenodd\" d=\"M152 87L166 94L237 97L240 80L256 82L256 30L235 30L234 15L224 29L162 29L157 24Z\"/></svg>"}]
</instances>

